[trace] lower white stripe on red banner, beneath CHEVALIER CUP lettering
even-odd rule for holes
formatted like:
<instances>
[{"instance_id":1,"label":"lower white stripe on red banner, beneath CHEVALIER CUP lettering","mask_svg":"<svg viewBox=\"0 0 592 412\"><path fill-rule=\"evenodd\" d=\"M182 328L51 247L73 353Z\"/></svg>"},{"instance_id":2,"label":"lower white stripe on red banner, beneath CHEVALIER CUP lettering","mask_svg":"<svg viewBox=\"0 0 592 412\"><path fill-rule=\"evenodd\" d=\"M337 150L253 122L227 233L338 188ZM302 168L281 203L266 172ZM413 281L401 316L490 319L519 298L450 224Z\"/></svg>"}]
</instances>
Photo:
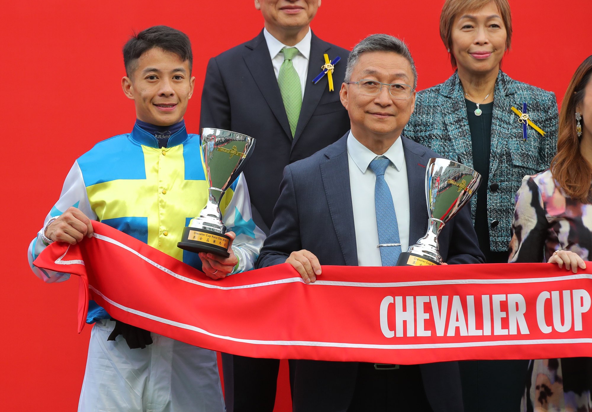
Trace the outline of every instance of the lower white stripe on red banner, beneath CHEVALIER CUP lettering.
<instances>
[{"instance_id":1,"label":"lower white stripe on red banner, beneath CHEVALIER CUP lettering","mask_svg":"<svg viewBox=\"0 0 592 412\"><path fill-rule=\"evenodd\" d=\"M185 323L176 322L163 317L155 316L149 313L141 312L124 305L118 304L106 297L96 288L89 285L96 294L100 295L105 301L120 308L128 313L133 313L136 316L141 316L160 323L165 323L170 326L180 327L186 330L202 333L207 336L215 337L217 339L230 340L232 342L251 343L253 345L278 345L278 346L320 346L320 347L349 347L358 349L433 349L433 348L448 348L448 347L481 347L481 346L512 346L512 345L549 345L549 344L565 344L565 343L592 343L592 339L532 339L532 340L494 340L489 342L455 342L455 343L426 343L416 345L371 345L368 343L344 343L344 342L310 342L306 340L258 340L258 339L240 339L238 337L223 336L208 332L200 327L188 325Z\"/></svg>"}]
</instances>

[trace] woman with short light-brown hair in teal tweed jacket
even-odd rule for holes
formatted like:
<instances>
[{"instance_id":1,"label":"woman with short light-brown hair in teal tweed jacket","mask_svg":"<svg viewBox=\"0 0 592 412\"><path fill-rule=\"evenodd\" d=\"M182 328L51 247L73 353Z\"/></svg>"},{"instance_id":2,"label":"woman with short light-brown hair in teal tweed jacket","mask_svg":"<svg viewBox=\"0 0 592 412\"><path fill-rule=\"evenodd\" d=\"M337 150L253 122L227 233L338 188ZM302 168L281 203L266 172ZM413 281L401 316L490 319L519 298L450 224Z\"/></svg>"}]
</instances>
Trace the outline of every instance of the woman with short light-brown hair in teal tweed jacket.
<instances>
[{"instance_id":1,"label":"woman with short light-brown hair in teal tweed jacket","mask_svg":"<svg viewBox=\"0 0 592 412\"><path fill-rule=\"evenodd\" d=\"M442 17L445 17L445 9L449 4L453 5L458 2L459 0L448 0L444 6ZM483 3L478 0L473 2ZM505 0L499 2L507 5ZM491 3L496 8L495 2ZM474 219L480 197L482 197L486 208L485 213L482 214L485 221L481 224L475 222L475 230L477 230L480 247L488 263L506 263L508 261L507 250L514 213L514 195L520 188L520 182L525 175L533 175L549 167L549 163L555 155L557 143L558 113L555 94L515 81L499 69L504 46L509 47L510 45L509 7L507 10L507 23L505 24L507 35L504 36L507 40L501 42L497 61L492 61L489 65L493 70L482 72L478 70L485 66L483 59L477 60L469 57L469 59L474 59L474 62L470 60L465 62L467 59L461 56L455 59L455 54L452 54L452 52L456 53L456 44L452 44L451 37L453 36L451 33L443 34L446 46L452 50L453 64L458 63L458 70L447 81L417 92L415 111L403 131L404 136L430 147L440 156L474 167L474 144L469 128L470 118L467 107L478 103L483 111L480 117L485 118L487 116L485 106L493 102L493 114L490 117L489 167L485 173L481 173L483 175L481 188L471 202L471 212ZM457 14L465 14L465 11L459 11ZM504 16L503 12L500 13L497 10L493 14ZM498 18L498 20L498 23L503 24L503 18ZM477 26L475 22L472 25ZM448 31L454 29L454 23L451 26ZM472 47L477 51L493 48L491 43L494 41L489 40L485 34L476 34L475 37L477 38L474 43L477 44L469 44L469 48ZM480 40L480 37L483 37L484 40ZM496 57L495 54L496 52L492 53L491 57ZM491 57L489 58L491 59ZM472 63L476 67L462 67L463 63L467 66ZM471 82L478 81L489 81L491 84L481 88L471 87ZM480 92L478 89L483 91ZM467 97L465 93L470 96L468 102L465 101ZM486 95L489 96L484 99ZM525 103L529 118L545 132L544 136L528 125L526 140L524 139L523 124L520 123L519 116L511 108L514 107L522 111ZM471 110L470 114L473 115L473 113Z\"/></svg>"}]
</instances>

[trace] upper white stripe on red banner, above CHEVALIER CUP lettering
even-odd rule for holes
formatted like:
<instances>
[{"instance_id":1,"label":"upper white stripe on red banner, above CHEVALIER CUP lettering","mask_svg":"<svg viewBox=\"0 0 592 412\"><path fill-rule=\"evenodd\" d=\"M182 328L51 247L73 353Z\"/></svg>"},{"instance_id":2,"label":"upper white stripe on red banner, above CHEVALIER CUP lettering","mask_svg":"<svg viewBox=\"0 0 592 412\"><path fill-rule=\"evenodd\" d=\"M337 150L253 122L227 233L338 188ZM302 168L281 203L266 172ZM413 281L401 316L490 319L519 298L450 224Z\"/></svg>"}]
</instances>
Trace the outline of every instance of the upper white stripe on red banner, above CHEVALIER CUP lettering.
<instances>
[{"instance_id":1,"label":"upper white stripe on red banner, above CHEVALIER CUP lettering","mask_svg":"<svg viewBox=\"0 0 592 412\"><path fill-rule=\"evenodd\" d=\"M181 281L188 282L194 285L199 285L204 288L211 288L211 289L221 289L221 290L231 290L231 289L246 289L246 288L258 288L263 286L271 286L271 285L279 285L279 284L289 284L294 282L302 282L305 283L300 276L295 278L286 278L286 279L278 279L276 281L271 282L261 282L258 284L249 284L249 285L240 285L240 286L231 286L231 287L224 287L218 285L210 285L200 281L196 281L194 279L186 278L185 276L179 275L171 271L165 266L159 265L158 263L150 260L144 255L141 255L136 250L131 249L130 247L126 246L125 244L118 242L115 239L111 239L111 237L104 236L102 234L94 233L94 237L99 240L104 240L105 242L114 244L115 246L119 246L128 252L133 253L134 255L140 257L140 259L145 260L146 262L150 263L150 265L155 266L155 268L160 269L161 271L168 273L170 276L173 276ZM67 253L67 251L66 251ZM64 257L66 253L62 256ZM60 259L62 259L60 257ZM67 262L75 262L75 263L82 263L82 260L69 260ZM56 261L57 263L57 261ZM437 281L413 281L413 282L388 282L388 283L369 283L369 282L345 282L345 281L322 281L317 280L314 283L308 284L309 287L312 286L350 286L350 287L359 287L359 288L403 288L403 287L410 287L410 286L428 286L428 285L466 285L466 284L474 284L474 285L503 285L503 284L530 284L530 283L541 283L541 282L561 282L561 281L571 281L575 279L592 279L592 274L590 273L574 273L571 275L565 276L553 276L551 278L531 278L531 279L444 279L444 280L437 280ZM512 341L514 342L514 341Z\"/></svg>"}]
</instances>

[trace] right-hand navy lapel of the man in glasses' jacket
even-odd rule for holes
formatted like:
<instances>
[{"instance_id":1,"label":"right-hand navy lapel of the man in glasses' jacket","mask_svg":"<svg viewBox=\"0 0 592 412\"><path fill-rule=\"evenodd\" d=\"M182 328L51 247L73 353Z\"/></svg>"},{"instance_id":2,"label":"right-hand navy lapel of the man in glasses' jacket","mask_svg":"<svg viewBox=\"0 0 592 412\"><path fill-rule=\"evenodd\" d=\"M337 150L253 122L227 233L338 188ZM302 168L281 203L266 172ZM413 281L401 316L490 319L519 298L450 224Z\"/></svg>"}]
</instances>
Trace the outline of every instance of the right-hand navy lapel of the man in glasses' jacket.
<instances>
[{"instance_id":1,"label":"right-hand navy lapel of the man in glasses' jacket","mask_svg":"<svg viewBox=\"0 0 592 412\"><path fill-rule=\"evenodd\" d=\"M410 140L403 139L403 152L407 168L407 184L409 188L409 246L417 243L427 232L426 203L426 150L421 147L410 147ZM405 251L406 252L406 251Z\"/></svg>"}]
</instances>

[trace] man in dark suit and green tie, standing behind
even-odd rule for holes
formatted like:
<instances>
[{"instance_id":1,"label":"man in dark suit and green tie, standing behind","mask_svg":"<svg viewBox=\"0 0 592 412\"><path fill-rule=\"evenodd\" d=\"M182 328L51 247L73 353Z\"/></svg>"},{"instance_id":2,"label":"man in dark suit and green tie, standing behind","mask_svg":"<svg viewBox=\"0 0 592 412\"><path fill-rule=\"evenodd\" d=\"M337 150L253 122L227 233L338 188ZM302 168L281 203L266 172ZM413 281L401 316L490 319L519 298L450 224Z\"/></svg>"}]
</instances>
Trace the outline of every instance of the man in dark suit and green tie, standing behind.
<instances>
[{"instance_id":1,"label":"man in dark suit and green tie, standing behind","mask_svg":"<svg viewBox=\"0 0 592 412\"><path fill-rule=\"evenodd\" d=\"M321 40L310 30L320 0L256 0L265 28L246 43L208 63L201 101L200 127L217 127L257 139L244 169L253 220L266 233L279 195L282 170L334 143L349 129L339 101L349 51ZM328 75L313 79L325 64L334 65L337 90ZM229 412L271 412L279 361L223 355ZM234 377L233 377L234 376Z\"/></svg>"}]
</instances>

